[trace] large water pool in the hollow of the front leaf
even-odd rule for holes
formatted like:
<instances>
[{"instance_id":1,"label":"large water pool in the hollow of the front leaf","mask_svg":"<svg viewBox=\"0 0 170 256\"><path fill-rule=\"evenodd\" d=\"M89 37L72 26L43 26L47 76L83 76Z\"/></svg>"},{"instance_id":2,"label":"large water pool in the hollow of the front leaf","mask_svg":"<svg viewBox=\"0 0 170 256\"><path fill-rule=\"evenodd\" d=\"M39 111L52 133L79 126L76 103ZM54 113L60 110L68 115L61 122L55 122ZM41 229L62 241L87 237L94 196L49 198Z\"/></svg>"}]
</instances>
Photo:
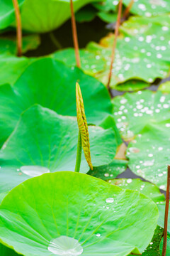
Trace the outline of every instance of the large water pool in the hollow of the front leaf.
<instances>
[{"instance_id":1,"label":"large water pool in the hollow of the front leaf","mask_svg":"<svg viewBox=\"0 0 170 256\"><path fill-rule=\"evenodd\" d=\"M60 238L51 240L48 250L54 255L78 256L82 254L83 247L77 239L62 235Z\"/></svg>"}]
</instances>

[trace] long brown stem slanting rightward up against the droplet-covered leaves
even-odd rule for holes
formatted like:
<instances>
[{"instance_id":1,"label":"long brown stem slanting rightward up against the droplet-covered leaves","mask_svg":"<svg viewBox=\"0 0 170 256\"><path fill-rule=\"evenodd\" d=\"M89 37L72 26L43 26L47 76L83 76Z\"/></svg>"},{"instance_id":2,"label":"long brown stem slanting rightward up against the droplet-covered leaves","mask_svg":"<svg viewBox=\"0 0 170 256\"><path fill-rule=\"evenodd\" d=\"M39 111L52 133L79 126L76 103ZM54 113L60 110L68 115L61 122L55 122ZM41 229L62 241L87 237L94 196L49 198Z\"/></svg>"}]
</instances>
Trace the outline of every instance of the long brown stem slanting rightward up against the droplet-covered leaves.
<instances>
[{"instance_id":1,"label":"long brown stem slanting rightward up against the droplet-covered leaves","mask_svg":"<svg viewBox=\"0 0 170 256\"><path fill-rule=\"evenodd\" d=\"M120 19L121 19L121 14L122 14L122 6L123 6L123 0L120 0L119 7L118 7L118 18L117 18L116 26L115 26L115 39L113 41L113 50L112 50L112 55L111 55L111 68L110 68L110 72L108 74L108 85L107 85L107 87L108 87L108 91L110 93L111 93L110 83L111 83L113 62L115 60L115 48L116 48L117 39L118 39L118 31L119 31Z\"/></svg>"}]
</instances>

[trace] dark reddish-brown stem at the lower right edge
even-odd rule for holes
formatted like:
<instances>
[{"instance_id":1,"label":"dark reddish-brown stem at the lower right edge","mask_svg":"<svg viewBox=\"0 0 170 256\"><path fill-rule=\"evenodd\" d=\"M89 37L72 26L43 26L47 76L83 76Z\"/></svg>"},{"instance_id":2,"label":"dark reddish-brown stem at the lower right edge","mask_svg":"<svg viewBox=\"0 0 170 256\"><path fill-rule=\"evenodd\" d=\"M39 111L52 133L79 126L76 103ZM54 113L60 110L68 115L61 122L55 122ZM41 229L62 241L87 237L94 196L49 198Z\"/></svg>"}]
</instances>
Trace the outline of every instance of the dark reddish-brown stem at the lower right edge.
<instances>
[{"instance_id":1,"label":"dark reddish-brown stem at the lower right edge","mask_svg":"<svg viewBox=\"0 0 170 256\"><path fill-rule=\"evenodd\" d=\"M167 188L166 188L166 206L164 216L164 244L162 256L166 256L167 232L168 232L168 215L169 215L169 186L170 186L170 166L168 166Z\"/></svg>"}]
</instances>

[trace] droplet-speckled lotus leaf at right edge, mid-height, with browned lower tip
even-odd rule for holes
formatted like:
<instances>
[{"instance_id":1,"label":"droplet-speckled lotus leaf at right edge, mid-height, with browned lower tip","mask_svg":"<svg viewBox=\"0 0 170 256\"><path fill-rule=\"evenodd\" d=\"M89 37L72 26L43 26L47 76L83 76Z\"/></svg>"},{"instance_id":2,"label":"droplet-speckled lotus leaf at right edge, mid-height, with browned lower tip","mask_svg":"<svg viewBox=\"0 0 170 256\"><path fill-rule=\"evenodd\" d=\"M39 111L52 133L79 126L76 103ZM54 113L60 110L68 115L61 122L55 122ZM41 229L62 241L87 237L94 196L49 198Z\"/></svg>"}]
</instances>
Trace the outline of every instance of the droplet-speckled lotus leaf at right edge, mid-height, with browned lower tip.
<instances>
[{"instance_id":1,"label":"droplet-speckled lotus leaf at right edge, mid-height, with browned lower tip","mask_svg":"<svg viewBox=\"0 0 170 256\"><path fill-rule=\"evenodd\" d=\"M113 114L123 139L133 139L149 123L168 123L170 94L150 90L125 93L113 99Z\"/></svg>"}]
</instances>

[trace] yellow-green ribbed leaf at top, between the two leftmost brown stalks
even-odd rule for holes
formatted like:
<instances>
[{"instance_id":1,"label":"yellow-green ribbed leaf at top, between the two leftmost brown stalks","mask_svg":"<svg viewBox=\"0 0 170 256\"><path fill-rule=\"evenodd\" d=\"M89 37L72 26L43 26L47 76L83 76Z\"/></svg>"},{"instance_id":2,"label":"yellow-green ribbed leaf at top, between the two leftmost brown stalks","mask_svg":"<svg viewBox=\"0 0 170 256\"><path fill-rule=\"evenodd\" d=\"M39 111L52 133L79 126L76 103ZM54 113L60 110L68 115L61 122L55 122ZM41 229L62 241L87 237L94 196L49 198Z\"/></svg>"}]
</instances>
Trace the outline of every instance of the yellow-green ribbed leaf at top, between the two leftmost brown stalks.
<instances>
[{"instance_id":1,"label":"yellow-green ribbed leaf at top, between the two leftmost brown stalks","mask_svg":"<svg viewBox=\"0 0 170 256\"><path fill-rule=\"evenodd\" d=\"M74 11L78 11L91 1L73 0ZM25 0L21 9L23 29L36 33L52 31L61 26L70 16L70 0Z\"/></svg>"}]
</instances>

